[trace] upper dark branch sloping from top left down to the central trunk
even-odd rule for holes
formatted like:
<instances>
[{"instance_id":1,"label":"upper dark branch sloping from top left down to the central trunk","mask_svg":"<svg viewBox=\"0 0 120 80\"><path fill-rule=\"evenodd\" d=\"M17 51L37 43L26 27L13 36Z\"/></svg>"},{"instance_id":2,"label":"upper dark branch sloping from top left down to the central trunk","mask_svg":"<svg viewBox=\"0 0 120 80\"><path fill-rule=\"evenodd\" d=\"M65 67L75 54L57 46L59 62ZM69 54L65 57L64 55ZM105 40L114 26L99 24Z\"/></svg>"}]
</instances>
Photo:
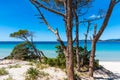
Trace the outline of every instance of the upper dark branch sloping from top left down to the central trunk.
<instances>
[{"instance_id":1,"label":"upper dark branch sloping from top left down to the central trunk","mask_svg":"<svg viewBox=\"0 0 120 80\"><path fill-rule=\"evenodd\" d=\"M56 10L53 10L53 9L51 9L51 8L49 8L49 7L46 7L46 6L42 5L40 2L38 2L37 0L30 0L30 1L31 1L33 4L38 5L39 7L44 8L45 10L48 10L48 11L50 11L50 12L53 12L53 13L55 13L55 14L58 14L58 15L60 15L60 16L65 17L65 15L64 15L63 13L58 12L58 11L56 11Z\"/></svg>"}]
</instances>

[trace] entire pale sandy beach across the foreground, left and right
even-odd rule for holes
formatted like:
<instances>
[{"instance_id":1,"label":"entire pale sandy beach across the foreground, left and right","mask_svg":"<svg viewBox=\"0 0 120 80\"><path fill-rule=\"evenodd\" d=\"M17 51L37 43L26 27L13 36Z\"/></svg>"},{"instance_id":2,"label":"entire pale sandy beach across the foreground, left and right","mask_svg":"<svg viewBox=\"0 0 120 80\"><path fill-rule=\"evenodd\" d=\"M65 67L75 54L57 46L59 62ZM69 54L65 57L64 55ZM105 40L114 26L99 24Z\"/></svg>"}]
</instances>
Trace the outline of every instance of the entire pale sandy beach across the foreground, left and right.
<instances>
[{"instance_id":1,"label":"entire pale sandy beach across the foreground, left and right","mask_svg":"<svg viewBox=\"0 0 120 80\"><path fill-rule=\"evenodd\" d=\"M100 61L99 62L102 68L94 71L95 80L120 80L120 62L115 61ZM9 68L19 64L21 67L18 68ZM0 80L6 80L9 76L13 80L25 80L25 73L30 67L35 67L34 65L28 65L27 61L19 60L2 60L0 61L0 68L4 67L9 72L7 75L0 76ZM67 76L64 71L59 68L48 67L41 69L45 73L49 74L49 80L64 80ZM45 77L39 78L38 80L46 80ZM90 78L83 77L82 80L90 80Z\"/></svg>"}]
</instances>

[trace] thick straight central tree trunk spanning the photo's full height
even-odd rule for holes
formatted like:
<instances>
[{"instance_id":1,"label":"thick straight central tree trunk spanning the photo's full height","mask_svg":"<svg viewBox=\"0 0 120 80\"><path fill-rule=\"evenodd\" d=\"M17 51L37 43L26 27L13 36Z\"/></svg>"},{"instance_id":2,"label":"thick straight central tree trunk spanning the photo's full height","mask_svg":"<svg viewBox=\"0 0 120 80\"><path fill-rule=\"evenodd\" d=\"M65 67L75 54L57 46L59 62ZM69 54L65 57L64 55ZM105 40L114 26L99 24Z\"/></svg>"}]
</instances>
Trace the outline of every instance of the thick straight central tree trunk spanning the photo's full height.
<instances>
[{"instance_id":1,"label":"thick straight central tree trunk spanning the photo's full height","mask_svg":"<svg viewBox=\"0 0 120 80\"><path fill-rule=\"evenodd\" d=\"M66 69L68 80L74 80L74 63L73 63L73 40L72 40L72 1L67 0L67 21L66 21L66 35L67 35L67 54L66 54Z\"/></svg>"}]
</instances>

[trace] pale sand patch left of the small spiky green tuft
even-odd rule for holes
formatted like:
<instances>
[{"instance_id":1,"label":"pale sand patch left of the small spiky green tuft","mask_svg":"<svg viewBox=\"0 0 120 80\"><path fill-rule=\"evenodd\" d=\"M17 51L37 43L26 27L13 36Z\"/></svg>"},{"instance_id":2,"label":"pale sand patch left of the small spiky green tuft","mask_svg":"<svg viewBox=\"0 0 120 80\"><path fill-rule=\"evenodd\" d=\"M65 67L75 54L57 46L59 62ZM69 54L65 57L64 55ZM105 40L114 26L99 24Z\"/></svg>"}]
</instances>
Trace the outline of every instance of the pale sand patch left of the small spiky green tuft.
<instances>
[{"instance_id":1,"label":"pale sand patch left of the small spiky green tuft","mask_svg":"<svg viewBox=\"0 0 120 80\"><path fill-rule=\"evenodd\" d=\"M19 64L20 68L9 68L9 66L13 66ZM8 75L0 76L0 80L5 80L9 76L13 78L13 80L24 80L24 75L27 69L31 66L26 65L28 62L26 61L18 61L18 60L3 60L0 62L0 68L4 67L8 71Z\"/></svg>"}]
</instances>

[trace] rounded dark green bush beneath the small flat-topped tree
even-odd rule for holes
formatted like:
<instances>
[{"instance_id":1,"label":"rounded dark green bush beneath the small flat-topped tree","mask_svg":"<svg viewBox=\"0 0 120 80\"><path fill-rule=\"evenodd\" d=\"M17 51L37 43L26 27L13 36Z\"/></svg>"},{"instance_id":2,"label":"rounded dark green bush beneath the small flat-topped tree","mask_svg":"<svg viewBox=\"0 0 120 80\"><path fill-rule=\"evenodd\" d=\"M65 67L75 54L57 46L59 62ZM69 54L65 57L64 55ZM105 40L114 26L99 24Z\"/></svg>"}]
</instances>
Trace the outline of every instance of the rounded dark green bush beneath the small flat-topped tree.
<instances>
[{"instance_id":1,"label":"rounded dark green bush beneath the small flat-topped tree","mask_svg":"<svg viewBox=\"0 0 120 80\"><path fill-rule=\"evenodd\" d=\"M19 59L19 60L28 60L28 59L36 59L37 56L34 53L33 48L31 45L27 42L20 43L16 45L11 52L11 54L6 57L7 59L9 58L14 58L14 59ZM5 59L6 59L5 58Z\"/></svg>"}]
</instances>

